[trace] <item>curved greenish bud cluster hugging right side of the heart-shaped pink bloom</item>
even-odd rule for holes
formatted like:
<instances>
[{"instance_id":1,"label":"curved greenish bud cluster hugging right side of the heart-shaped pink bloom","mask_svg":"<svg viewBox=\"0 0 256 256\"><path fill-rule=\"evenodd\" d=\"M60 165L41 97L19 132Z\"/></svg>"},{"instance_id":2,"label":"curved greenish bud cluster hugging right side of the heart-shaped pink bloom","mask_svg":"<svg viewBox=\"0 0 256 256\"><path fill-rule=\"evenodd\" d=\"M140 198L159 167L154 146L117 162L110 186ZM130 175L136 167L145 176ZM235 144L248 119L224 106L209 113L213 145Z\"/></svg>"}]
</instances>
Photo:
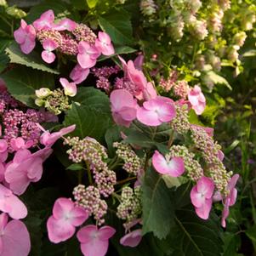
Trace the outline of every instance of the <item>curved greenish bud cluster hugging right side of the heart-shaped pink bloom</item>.
<instances>
[{"instance_id":1,"label":"curved greenish bud cluster hugging right side of the heart-shaped pink bloom","mask_svg":"<svg viewBox=\"0 0 256 256\"><path fill-rule=\"evenodd\" d=\"M197 181L203 176L202 166L196 159L194 159L195 154L190 152L184 145L173 145L168 154L170 158L174 156L182 157L187 175L193 181Z\"/></svg>"}]
</instances>

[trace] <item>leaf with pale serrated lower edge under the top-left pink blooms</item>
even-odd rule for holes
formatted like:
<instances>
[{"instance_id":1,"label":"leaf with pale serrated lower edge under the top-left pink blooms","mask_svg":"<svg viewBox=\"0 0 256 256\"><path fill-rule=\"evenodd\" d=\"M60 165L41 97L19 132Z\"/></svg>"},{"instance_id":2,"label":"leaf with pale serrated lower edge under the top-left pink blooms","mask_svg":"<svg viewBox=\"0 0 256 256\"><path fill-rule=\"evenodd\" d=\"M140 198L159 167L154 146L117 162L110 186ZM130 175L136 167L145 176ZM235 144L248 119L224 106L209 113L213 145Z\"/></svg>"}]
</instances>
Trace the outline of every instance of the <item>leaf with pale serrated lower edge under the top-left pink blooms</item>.
<instances>
[{"instance_id":1,"label":"leaf with pale serrated lower edge under the top-left pink blooms","mask_svg":"<svg viewBox=\"0 0 256 256\"><path fill-rule=\"evenodd\" d=\"M59 71L55 71L45 65L37 52L33 51L31 54L23 54L17 43L13 43L9 46L9 48L6 48L6 54L9 55L11 63L26 65L39 71L59 74Z\"/></svg>"}]
</instances>

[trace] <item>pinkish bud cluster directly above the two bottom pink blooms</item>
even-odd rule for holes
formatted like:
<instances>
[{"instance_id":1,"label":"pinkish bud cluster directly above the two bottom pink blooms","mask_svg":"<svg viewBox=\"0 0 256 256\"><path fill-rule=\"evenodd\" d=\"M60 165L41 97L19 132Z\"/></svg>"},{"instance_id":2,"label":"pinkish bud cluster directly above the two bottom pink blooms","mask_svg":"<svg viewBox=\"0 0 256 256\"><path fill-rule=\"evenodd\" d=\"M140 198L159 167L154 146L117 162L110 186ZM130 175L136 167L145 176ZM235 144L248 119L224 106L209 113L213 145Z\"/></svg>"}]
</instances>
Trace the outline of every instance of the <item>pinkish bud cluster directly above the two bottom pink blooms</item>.
<instances>
[{"instance_id":1,"label":"pinkish bud cluster directly above the two bottom pink blooms","mask_svg":"<svg viewBox=\"0 0 256 256\"><path fill-rule=\"evenodd\" d=\"M77 205L85 208L90 216L94 216L97 225L105 223L107 203L100 199L100 191L96 187L89 185L86 188L84 185L77 185L73 190L73 195Z\"/></svg>"}]
</instances>

